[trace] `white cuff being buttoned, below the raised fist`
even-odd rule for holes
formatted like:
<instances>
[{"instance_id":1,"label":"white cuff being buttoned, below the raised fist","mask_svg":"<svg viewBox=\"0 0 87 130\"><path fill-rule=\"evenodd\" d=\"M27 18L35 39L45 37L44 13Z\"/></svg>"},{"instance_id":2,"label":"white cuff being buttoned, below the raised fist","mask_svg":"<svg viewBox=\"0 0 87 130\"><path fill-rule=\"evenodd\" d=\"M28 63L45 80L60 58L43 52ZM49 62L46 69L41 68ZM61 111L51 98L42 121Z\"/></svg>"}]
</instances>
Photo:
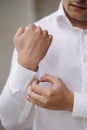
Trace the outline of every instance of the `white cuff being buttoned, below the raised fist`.
<instances>
[{"instance_id":1,"label":"white cuff being buttoned, below the raised fist","mask_svg":"<svg viewBox=\"0 0 87 130\"><path fill-rule=\"evenodd\" d=\"M16 70L11 78L11 88L24 90L35 79L40 79L38 72L28 70L17 63Z\"/></svg>"}]
</instances>

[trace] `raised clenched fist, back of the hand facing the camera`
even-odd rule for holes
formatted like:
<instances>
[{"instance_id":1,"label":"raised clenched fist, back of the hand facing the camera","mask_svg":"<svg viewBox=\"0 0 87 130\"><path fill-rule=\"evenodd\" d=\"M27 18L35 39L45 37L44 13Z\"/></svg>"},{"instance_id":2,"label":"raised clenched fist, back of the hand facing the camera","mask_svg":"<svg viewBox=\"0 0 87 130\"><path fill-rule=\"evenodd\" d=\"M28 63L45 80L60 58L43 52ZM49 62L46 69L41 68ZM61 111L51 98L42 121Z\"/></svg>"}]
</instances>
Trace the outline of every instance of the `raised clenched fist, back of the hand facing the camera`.
<instances>
[{"instance_id":1,"label":"raised clenched fist, back of the hand facing the camera","mask_svg":"<svg viewBox=\"0 0 87 130\"><path fill-rule=\"evenodd\" d=\"M31 24L27 29L19 28L13 41L18 52L18 63L35 71L51 45L52 35Z\"/></svg>"}]
</instances>

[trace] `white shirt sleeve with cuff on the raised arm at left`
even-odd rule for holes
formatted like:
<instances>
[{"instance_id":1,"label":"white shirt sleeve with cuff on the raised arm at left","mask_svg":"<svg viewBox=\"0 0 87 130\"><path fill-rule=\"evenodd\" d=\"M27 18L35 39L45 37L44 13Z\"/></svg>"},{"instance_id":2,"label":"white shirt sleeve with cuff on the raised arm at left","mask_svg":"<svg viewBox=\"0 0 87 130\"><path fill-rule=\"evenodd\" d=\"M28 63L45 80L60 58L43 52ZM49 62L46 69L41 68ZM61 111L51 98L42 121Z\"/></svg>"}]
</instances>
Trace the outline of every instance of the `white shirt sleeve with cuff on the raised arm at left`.
<instances>
[{"instance_id":1,"label":"white shirt sleeve with cuff on the raised arm at left","mask_svg":"<svg viewBox=\"0 0 87 130\"><path fill-rule=\"evenodd\" d=\"M11 71L0 96L0 120L6 130L22 130L31 127L35 106L26 100L27 86L39 73L30 71L17 63L14 50Z\"/></svg>"}]
</instances>

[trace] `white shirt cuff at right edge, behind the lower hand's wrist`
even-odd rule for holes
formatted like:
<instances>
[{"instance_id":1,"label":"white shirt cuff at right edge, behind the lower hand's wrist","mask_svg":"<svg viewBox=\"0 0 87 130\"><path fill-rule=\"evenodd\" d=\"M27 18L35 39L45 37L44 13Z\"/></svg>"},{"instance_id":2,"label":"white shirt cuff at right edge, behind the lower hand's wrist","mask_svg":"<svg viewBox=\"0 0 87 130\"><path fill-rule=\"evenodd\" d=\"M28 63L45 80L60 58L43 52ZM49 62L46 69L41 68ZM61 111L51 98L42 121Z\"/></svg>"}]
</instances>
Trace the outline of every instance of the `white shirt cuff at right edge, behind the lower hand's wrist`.
<instances>
[{"instance_id":1,"label":"white shirt cuff at right edge, behind the lower hand's wrist","mask_svg":"<svg viewBox=\"0 0 87 130\"><path fill-rule=\"evenodd\" d=\"M74 92L73 116L87 118L87 93Z\"/></svg>"}]
</instances>

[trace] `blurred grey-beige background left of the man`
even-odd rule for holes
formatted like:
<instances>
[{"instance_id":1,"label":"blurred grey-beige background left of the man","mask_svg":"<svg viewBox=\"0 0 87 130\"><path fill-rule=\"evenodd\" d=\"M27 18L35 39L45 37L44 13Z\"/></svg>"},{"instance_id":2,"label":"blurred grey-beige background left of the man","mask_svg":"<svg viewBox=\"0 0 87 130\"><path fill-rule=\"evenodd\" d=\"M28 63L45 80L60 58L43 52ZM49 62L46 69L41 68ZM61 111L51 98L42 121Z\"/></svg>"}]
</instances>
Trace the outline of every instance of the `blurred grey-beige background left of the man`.
<instances>
[{"instance_id":1,"label":"blurred grey-beige background left of the man","mask_svg":"<svg viewBox=\"0 0 87 130\"><path fill-rule=\"evenodd\" d=\"M0 0L0 93L7 80L13 36L20 26L26 27L58 9L60 0ZM0 130L3 130L0 123Z\"/></svg>"}]
</instances>

